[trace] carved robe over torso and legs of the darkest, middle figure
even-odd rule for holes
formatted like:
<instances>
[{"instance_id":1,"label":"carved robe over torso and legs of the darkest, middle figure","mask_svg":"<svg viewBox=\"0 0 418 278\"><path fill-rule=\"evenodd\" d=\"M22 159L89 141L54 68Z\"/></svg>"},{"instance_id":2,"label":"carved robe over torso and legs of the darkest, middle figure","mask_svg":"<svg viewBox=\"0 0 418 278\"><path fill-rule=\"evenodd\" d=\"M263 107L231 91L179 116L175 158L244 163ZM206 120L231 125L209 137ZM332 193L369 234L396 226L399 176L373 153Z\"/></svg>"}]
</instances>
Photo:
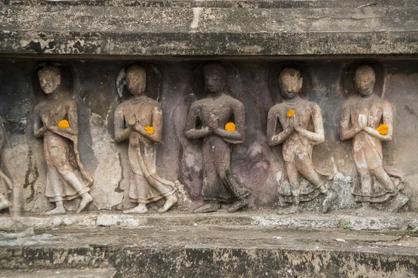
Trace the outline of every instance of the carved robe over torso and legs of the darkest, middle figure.
<instances>
[{"instance_id":1,"label":"carved robe over torso and legs of the darkest, middle figure","mask_svg":"<svg viewBox=\"0 0 418 278\"><path fill-rule=\"evenodd\" d=\"M234 115L233 107L244 110L244 105L229 95L219 99L200 99L192 104L188 121L196 126L212 126L224 129L227 122L234 118L237 129L245 132L245 113ZM243 186L231 172L231 145L243 142L222 138L210 134L203 138L203 187L202 195L206 201L233 202L251 194L251 190Z\"/></svg>"}]
</instances>

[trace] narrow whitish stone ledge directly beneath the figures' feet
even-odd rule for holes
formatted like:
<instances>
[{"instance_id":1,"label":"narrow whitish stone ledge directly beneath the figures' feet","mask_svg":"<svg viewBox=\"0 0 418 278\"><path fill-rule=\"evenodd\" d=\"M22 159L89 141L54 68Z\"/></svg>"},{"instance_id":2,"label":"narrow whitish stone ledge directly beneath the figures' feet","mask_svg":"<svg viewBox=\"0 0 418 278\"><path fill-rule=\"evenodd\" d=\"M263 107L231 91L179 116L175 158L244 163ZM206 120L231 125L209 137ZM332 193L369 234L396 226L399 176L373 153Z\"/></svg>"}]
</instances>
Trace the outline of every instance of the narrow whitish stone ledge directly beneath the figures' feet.
<instances>
[{"instance_id":1,"label":"narrow whitish stone ledge directly beneath the figures' feet","mask_svg":"<svg viewBox=\"0 0 418 278\"><path fill-rule=\"evenodd\" d=\"M258 227L284 227L291 229L350 229L355 231L418 231L418 218L406 215L257 215L246 213L213 214L86 214L45 217L0 218L0 229L25 226L51 227L143 227L181 225L252 225Z\"/></svg>"}]
</instances>

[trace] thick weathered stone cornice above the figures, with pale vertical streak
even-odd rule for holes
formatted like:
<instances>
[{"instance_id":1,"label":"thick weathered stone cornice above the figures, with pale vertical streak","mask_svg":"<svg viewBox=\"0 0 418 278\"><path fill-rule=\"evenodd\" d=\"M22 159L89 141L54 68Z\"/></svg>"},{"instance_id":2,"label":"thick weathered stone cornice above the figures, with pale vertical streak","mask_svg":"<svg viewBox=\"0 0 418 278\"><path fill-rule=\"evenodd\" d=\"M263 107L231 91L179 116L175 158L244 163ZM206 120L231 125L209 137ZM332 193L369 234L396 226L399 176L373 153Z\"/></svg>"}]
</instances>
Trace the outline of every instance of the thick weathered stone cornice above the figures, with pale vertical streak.
<instances>
[{"instance_id":1,"label":"thick weathered stone cornice above the figures, with pale vertical streak","mask_svg":"<svg viewBox=\"0 0 418 278\"><path fill-rule=\"evenodd\" d=\"M6 5L3 55L333 56L418 53L417 6L183 8Z\"/></svg>"}]
</instances>

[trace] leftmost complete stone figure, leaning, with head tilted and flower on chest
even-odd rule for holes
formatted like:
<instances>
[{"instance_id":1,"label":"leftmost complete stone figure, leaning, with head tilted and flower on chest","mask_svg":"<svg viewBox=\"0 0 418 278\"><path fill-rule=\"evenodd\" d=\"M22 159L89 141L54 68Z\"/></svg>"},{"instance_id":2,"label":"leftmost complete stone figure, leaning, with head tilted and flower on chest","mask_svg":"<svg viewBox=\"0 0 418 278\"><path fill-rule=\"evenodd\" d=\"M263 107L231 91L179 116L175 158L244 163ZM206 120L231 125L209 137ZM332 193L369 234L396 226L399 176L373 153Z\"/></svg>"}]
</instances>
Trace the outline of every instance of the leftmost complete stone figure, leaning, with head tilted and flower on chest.
<instances>
[{"instance_id":1,"label":"leftmost complete stone figure, leaning, with head tilted and flower on chest","mask_svg":"<svg viewBox=\"0 0 418 278\"><path fill-rule=\"evenodd\" d=\"M38 77L47 98L35 107L34 132L44 142L45 195L56 204L47 214L65 213L63 201L81 197L79 213L93 201L88 194L93 178L84 170L79 157L77 104L60 88L61 72L57 67L42 67Z\"/></svg>"}]
</instances>

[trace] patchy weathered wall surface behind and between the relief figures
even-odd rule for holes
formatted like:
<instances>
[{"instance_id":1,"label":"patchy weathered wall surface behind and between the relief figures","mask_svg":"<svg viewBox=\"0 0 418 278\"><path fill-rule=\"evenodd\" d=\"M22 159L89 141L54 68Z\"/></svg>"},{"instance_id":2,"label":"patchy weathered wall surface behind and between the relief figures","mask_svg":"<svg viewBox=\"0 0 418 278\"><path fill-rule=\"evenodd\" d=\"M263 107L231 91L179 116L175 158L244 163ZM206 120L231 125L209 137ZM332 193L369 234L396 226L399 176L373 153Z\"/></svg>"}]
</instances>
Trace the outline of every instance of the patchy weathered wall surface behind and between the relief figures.
<instances>
[{"instance_id":1,"label":"patchy weathered wall surface behind and between the relief figures","mask_svg":"<svg viewBox=\"0 0 418 278\"><path fill-rule=\"evenodd\" d=\"M129 165L127 144L114 142L114 110L120 103L116 76L133 60L59 60L67 67L74 83L73 97L78 104L79 149L86 170L95 182L91 187L93 203L88 210L121 209L133 206L127 197ZM26 211L49 210L45 197L45 158L42 140L33 136L33 107L42 97L34 69L38 59L0 59L0 115L13 149L13 171L23 186ZM157 149L160 175L185 184L189 197L201 201L202 158L199 142L185 138L185 118L190 104L204 96L201 65L205 60L136 60L154 65L149 74L148 95L158 98L164 113L163 142ZM286 62L286 63L284 63ZM266 139L269 109L281 101L276 78L286 60L275 58L224 59L232 96L242 101L246 113L246 140L235 145L232 169L238 179L253 191L250 207L274 207L277 202L277 177L283 171L281 147L270 148ZM314 165L336 174L333 183L339 197L334 208L352 208L350 179L355 173L352 143L339 139L342 102L353 93L353 67L370 61L359 59L309 59L293 61L302 68L307 99L323 111L325 142L314 147ZM394 108L394 140L384 144L385 161L401 170L410 195L409 208L418 211L418 60L375 59L375 93L389 100ZM69 76L68 76L69 77ZM68 79L70 80L70 79ZM160 88L160 92L155 92ZM308 205L318 209L323 197ZM79 200L70 202L75 208ZM187 208L190 205L183 207ZM181 208L181 207L180 207Z\"/></svg>"}]
</instances>

